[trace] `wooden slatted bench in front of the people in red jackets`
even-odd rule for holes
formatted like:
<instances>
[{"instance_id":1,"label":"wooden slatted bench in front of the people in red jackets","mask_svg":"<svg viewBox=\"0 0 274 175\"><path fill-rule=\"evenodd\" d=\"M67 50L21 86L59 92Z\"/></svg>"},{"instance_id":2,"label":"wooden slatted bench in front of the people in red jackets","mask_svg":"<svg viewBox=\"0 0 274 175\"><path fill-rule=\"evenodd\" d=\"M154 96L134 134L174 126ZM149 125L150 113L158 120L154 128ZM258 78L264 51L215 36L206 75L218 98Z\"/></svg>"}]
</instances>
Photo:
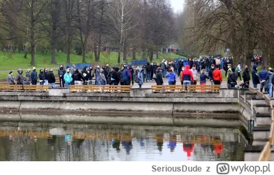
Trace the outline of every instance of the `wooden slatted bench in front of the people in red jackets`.
<instances>
[{"instance_id":1,"label":"wooden slatted bench in front of the people in red jackets","mask_svg":"<svg viewBox=\"0 0 274 175\"><path fill-rule=\"evenodd\" d=\"M220 85L153 85L153 93L219 93Z\"/></svg>"}]
</instances>

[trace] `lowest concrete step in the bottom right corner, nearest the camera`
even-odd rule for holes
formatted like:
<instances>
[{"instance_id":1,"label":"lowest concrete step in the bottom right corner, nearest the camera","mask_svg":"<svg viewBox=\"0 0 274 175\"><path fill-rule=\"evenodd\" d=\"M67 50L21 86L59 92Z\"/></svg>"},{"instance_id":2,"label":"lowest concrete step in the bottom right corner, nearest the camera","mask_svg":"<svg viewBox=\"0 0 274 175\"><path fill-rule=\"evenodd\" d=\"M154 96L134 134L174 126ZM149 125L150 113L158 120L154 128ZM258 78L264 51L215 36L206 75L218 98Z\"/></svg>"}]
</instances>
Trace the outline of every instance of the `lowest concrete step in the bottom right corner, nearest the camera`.
<instances>
[{"instance_id":1,"label":"lowest concrete step in the bottom right corner, nearest the camera","mask_svg":"<svg viewBox=\"0 0 274 175\"><path fill-rule=\"evenodd\" d=\"M265 145L265 144L264 144ZM245 161L258 161L260 158L260 154L262 150L264 150L264 145L247 145L245 148ZM272 147L272 157L271 160L274 159L274 149Z\"/></svg>"}]
</instances>

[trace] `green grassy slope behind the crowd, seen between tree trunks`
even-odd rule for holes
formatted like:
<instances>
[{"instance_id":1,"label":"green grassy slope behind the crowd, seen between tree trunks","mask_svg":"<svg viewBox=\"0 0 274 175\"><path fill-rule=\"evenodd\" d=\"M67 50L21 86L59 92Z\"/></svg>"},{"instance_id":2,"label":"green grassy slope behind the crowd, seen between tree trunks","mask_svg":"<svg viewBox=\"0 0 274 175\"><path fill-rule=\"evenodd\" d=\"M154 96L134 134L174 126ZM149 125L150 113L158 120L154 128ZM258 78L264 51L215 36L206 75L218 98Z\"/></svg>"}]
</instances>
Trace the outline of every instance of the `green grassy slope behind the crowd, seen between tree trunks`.
<instances>
[{"instance_id":1,"label":"green grassy slope behind the crowd, seen between tree trunks","mask_svg":"<svg viewBox=\"0 0 274 175\"><path fill-rule=\"evenodd\" d=\"M21 52L21 54L15 53L12 54L11 52L0 52L0 71L4 70L13 70L16 71L17 69L32 69L32 66L30 66L31 62L31 55L27 54L27 59L24 58L25 53ZM93 56L90 54L87 54L86 62L95 62L95 59L92 58ZM140 60L141 55L137 54L136 56L138 60ZM36 69L44 68L44 67L59 67L59 65L66 65L66 54L62 52L56 52L55 54L55 60L56 65L51 65L51 54L48 52L47 54L41 54L40 52L36 53ZM160 62L160 60L173 60L174 58L180 58L180 56L177 56L175 54L160 54L160 58L153 59L153 62ZM128 57L128 62L132 62L132 57ZM81 63L82 62L82 56L77 56L75 54L71 54L71 63ZM108 55L108 52L102 52L100 57L100 62L96 62L94 64L99 65L118 65L117 64L117 53L111 52L110 56ZM0 72L0 78L7 78L8 72Z\"/></svg>"}]
</instances>

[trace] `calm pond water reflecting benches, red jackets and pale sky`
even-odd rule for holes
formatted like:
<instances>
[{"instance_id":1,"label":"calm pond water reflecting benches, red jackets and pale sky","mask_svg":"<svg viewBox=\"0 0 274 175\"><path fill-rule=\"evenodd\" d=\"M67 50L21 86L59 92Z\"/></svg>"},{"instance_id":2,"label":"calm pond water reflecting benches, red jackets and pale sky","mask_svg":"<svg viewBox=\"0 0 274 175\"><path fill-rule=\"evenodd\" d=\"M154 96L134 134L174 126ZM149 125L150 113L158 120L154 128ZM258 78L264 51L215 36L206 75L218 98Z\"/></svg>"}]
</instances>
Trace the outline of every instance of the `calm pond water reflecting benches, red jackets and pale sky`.
<instances>
[{"instance_id":1,"label":"calm pond water reflecting benches, red jackets and pale sky","mask_svg":"<svg viewBox=\"0 0 274 175\"><path fill-rule=\"evenodd\" d=\"M0 122L0 161L243 161L241 130Z\"/></svg>"}]
</instances>

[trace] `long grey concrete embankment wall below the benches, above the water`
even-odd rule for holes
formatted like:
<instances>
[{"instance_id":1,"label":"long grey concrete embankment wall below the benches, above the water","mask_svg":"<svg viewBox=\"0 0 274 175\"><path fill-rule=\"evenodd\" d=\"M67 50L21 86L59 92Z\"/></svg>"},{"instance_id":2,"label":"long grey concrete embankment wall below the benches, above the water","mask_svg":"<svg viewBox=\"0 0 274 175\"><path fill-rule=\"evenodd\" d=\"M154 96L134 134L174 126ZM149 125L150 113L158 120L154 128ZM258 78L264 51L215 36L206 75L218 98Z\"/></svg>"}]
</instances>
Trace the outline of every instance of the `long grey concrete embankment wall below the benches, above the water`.
<instances>
[{"instance_id":1,"label":"long grey concrete embankment wall below the benches, above the water","mask_svg":"<svg viewBox=\"0 0 274 175\"><path fill-rule=\"evenodd\" d=\"M153 94L149 89L119 93L0 93L0 109L14 112L47 111L66 113L238 113L238 90L221 89L211 94Z\"/></svg>"}]
</instances>

